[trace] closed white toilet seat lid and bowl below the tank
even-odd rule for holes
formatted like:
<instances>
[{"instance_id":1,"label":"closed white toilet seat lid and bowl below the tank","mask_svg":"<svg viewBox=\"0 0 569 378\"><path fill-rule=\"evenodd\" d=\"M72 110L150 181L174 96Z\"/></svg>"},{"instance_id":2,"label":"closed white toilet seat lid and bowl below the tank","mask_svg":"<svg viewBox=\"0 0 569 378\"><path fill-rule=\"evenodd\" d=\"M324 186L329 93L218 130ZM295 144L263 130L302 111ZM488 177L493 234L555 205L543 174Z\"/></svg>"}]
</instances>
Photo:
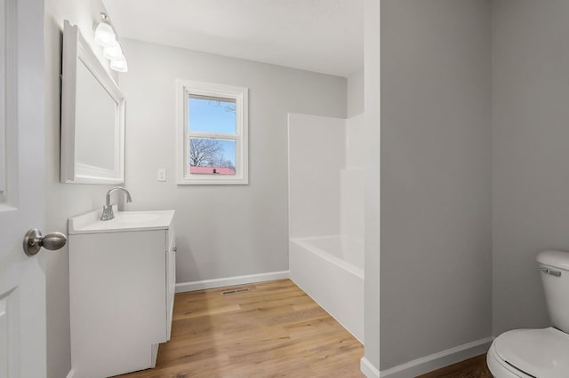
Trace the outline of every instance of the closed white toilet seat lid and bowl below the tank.
<instances>
[{"instance_id":1,"label":"closed white toilet seat lid and bowl below the tank","mask_svg":"<svg viewBox=\"0 0 569 378\"><path fill-rule=\"evenodd\" d=\"M566 378L569 335L553 327L515 329L494 340L487 360L498 378Z\"/></svg>"}]
</instances>

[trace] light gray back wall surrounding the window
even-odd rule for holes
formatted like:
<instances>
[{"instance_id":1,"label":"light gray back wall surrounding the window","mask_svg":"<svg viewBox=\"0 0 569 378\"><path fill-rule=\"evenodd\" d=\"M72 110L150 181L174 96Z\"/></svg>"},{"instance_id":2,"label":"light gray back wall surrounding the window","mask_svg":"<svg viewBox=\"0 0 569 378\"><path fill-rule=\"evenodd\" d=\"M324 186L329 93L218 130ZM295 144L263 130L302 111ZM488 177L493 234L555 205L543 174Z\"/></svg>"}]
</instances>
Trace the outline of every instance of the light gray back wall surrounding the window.
<instances>
[{"instance_id":1,"label":"light gray back wall surrounding the window","mask_svg":"<svg viewBox=\"0 0 569 378\"><path fill-rule=\"evenodd\" d=\"M345 117L346 79L132 40L124 51L129 209L176 210L178 282L287 270L286 114ZM176 185L176 78L249 88L249 185Z\"/></svg>"}]
</instances>

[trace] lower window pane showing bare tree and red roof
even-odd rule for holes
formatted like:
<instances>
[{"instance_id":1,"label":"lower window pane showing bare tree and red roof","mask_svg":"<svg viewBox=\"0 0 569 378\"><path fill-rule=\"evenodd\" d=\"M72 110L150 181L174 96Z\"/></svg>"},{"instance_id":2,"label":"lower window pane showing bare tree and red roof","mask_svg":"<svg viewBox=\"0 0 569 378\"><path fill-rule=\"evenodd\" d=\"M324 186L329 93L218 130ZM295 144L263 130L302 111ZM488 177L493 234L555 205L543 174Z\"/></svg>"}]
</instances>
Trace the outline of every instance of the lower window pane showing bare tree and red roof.
<instances>
[{"instance_id":1,"label":"lower window pane showing bare tree and red roof","mask_svg":"<svg viewBox=\"0 0 569 378\"><path fill-rule=\"evenodd\" d=\"M189 138L189 173L235 175L235 140Z\"/></svg>"}]
</instances>

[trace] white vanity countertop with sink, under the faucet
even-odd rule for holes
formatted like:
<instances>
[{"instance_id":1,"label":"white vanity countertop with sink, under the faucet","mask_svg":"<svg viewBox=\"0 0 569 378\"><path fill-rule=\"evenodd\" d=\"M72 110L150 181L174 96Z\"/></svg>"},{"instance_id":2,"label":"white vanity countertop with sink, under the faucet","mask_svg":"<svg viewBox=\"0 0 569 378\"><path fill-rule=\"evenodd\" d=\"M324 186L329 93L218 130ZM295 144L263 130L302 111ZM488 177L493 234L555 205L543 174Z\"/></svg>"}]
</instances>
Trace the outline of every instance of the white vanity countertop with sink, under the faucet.
<instances>
[{"instance_id":1,"label":"white vanity countertop with sink, under the faucet","mask_svg":"<svg viewBox=\"0 0 569 378\"><path fill-rule=\"evenodd\" d=\"M102 210L93 210L77 217L69 218L68 233L100 233L164 230L172 224L174 210L117 211L113 206L115 218L101 221Z\"/></svg>"}]
</instances>

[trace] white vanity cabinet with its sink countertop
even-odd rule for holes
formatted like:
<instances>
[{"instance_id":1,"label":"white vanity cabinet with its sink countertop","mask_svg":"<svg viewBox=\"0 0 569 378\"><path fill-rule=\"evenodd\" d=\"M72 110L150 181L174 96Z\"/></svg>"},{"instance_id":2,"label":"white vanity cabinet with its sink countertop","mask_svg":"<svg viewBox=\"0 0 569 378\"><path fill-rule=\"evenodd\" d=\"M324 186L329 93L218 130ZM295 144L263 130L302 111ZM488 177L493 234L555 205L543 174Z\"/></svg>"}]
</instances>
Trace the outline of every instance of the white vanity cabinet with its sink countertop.
<instances>
[{"instance_id":1,"label":"white vanity cabinet with its sink countertop","mask_svg":"<svg viewBox=\"0 0 569 378\"><path fill-rule=\"evenodd\" d=\"M76 378L156 366L158 344L170 339L172 327L174 212L117 212L110 221L93 213L68 226Z\"/></svg>"}]
</instances>

